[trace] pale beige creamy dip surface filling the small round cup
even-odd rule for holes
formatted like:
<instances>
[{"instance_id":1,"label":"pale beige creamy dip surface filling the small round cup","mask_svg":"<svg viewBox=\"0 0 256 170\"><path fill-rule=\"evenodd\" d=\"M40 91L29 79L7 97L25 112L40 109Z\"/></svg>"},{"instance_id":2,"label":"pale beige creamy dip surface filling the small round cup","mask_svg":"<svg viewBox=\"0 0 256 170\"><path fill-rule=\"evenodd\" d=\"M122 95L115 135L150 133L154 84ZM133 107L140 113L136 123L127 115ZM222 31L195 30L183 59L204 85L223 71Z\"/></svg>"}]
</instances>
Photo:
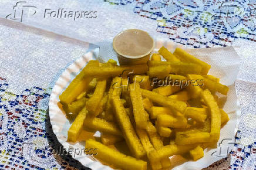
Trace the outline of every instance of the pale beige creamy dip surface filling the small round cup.
<instances>
[{"instance_id":1,"label":"pale beige creamy dip surface filling the small round cup","mask_svg":"<svg viewBox=\"0 0 256 170\"><path fill-rule=\"evenodd\" d=\"M124 57L139 58L153 50L154 40L140 29L128 29L113 39L113 49Z\"/></svg>"}]
</instances>

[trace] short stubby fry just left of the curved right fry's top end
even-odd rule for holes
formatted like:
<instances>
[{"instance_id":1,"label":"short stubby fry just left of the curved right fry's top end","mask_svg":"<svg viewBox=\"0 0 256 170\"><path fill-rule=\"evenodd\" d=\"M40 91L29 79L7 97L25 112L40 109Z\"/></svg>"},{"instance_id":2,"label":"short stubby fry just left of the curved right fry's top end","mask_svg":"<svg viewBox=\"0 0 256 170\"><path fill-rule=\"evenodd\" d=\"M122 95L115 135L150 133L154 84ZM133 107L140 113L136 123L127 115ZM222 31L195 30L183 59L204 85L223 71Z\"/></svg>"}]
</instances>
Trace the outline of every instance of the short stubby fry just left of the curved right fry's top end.
<instances>
[{"instance_id":1,"label":"short stubby fry just left of the curved right fry's top end","mask_svg":"<svg viewBox=\"0 0 256 170\"><path fill-rule=\"evenodd\" d=\"M190 93L191 98L200 97L201 92L203 91L199 85L200 83L196 82L196 77L193 74L188 74L187 79L190 80L190 83L187 86L187 90ZM194 82L194 83L193 83Z\"/></svg>"}]
</instances>

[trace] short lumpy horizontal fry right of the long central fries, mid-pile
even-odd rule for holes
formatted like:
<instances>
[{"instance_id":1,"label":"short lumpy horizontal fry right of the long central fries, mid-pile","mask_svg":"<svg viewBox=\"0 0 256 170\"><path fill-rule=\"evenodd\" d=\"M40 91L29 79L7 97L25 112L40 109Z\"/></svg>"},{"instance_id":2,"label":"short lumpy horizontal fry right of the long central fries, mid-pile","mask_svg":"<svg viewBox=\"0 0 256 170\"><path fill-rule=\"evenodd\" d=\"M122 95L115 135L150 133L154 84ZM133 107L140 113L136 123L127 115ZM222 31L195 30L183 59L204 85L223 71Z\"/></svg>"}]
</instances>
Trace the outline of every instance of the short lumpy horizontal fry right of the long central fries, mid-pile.
<instances>
[{"instance_id":1,"label":"short lumpy horizontal fry right of the long central fries, mid-pile","mask_svg":"<svg viewBox=\"0 0 256 170\"><path fill-rule=\"evenodd\" d=\"M169 114L157 115L157 123L164 127L186 128L187 119L185 117L173 117Z\"/></svg>"}]
</instances>

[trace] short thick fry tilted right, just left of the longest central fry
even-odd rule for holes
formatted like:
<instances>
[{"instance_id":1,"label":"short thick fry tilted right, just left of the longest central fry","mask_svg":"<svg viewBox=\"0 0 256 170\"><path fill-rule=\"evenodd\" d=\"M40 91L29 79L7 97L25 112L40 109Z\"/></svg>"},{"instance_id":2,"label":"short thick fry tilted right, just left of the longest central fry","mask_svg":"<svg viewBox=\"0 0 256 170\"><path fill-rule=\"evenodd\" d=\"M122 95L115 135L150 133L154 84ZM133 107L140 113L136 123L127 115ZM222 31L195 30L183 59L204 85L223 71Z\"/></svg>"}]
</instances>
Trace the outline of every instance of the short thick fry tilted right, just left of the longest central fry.
<instances>
[{"instance_id":1,"label":"short thick fry tilted right, just left of the longest central fry","mask_svg":"<svg viewBox=\"0 0 256 170\"><path fill-rule=\"evenodd\" d=\"M98 80L92 97L86 102L85 107L90 115L97 116L96 114L99 114L96 112L96 110L100 104L100 100L102 100L103 95L105 93L106 84L106 79Z\"/></svg>"}]
</instances>

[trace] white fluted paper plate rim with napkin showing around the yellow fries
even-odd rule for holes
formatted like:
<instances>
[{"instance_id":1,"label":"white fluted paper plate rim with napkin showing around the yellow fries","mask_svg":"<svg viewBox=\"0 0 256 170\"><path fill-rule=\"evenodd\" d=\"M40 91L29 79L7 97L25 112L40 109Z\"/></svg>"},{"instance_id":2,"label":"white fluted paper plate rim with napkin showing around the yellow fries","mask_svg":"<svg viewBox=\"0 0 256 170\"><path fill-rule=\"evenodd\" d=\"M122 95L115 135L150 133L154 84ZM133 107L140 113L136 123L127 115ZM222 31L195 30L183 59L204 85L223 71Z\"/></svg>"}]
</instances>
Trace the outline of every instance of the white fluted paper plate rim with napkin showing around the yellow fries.
<instances>
[{"instance_id":1,"label":"white fluted paper plate rim with napkin showing around the yellow fries","mask_svg":"<svg viewBox=\"0 0 256 170\"><path fill-rule=\"evenodd\" d=\"M234 147L234 136L235 132L237 131L238 123L240 120L240 104L236 97L234 80L229 79L231 79L230 77L234 77L234 74L237 74L239 71L239 66L237 67L239 61L234 62L238 60L239 57L234 57L234 55L237 54L234 49L229 47L190 50L186 46L180 45L178 43L166 42L164 40L156 40L154 52L157 52L157 50L163 45L167 47L167 49L169 49L171 52L173 52L176 49L176 47L181 47L183 49L189 50L191 54L211 64L212 67L210 70L210 74L220 77L221 83L226 84L228 85L228 87L230 87L227 102L224 106L224 110L228 112L230 121L228 121L228 123L221 129L221 137L220 140L218 141L218 148L205 149L205 156L203 158L199 159L198 161L185 162L182 165L176 166L174 169L206 168L207 166L213 164L215 161L227 157L227 149L228 151L231 151L231 149ZM223 53L223 57L221 57L222 63L219 62L220 56L218 56L218 58L215 59L214 55L216 52ZM230 55L231 59L233 60L233 62L231 62L230 66L228 67L226 65L230 62L230 57L227 57L227 54ZM67 142L68 130L71 123L65 117L65 113L63 113L59 105L59 95L62 93L63 90L66 89L68 84L75 78L75 76L80 72L80 70L86 66L87 62L89 62L89 60L92 59L95 59L93 58L93 52L86 53L85 56L80 57L73 64L71 64L56 81L56 84L52 89L52 94L49 100L50 123L52 124L53 132L58 138L60 144L63 145L63 148L65 148L66 150L69 149L70 153L72 154L72 157L80 161L82 165L89 167L91 169L112 169L109 166L103 165L96 159L93 159L91 156L86 155L84 152L82 152L85 148L85 142ZM225 64L225 66L223 66L223 64ZM238 70L234 70L235 68Z\"/></svg>"}]
</instances>

